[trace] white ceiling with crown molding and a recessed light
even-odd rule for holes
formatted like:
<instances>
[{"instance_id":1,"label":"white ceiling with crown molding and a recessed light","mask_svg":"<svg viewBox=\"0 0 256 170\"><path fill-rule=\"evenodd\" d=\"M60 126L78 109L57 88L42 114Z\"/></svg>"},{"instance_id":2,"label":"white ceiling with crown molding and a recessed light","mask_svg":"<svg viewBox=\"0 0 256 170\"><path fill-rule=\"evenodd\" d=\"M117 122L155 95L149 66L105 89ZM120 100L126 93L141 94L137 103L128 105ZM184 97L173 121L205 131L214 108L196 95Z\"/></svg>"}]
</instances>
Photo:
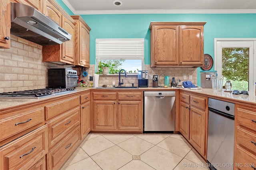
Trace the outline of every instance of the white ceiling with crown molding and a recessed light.
<instances>
[{"instance_id":1,"label":"white ceiling with crown molding and a recessed light","mask_svg":"<svg viewBox=\"0 0 256 170\"><path fill-rule=\"evenodd\" d=\"M75 14L256 14L256 0L62 0ZM120 4L116 6L116 4Z\"/></svg>"}]
</instances>

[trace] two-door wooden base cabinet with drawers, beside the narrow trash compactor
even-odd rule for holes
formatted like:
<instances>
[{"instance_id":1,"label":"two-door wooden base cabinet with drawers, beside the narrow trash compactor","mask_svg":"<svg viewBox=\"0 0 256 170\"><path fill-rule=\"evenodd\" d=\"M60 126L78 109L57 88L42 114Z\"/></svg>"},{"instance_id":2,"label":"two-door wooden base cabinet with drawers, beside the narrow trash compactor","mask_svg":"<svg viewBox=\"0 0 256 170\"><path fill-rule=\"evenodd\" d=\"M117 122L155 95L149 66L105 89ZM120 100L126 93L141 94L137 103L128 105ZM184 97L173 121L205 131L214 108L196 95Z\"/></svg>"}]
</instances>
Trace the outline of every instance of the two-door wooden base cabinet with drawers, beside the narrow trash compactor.
<instances>
[{"instance_id":1,"label":"two-door wooden base cabinet with drawers, beside the narrow trash compactor","mask_svg":"<svg viewBox=\"0 0 256 170\"><path fill-rule=\"evenodd\" d=\"M206 159L208 98L180 92L180 133Z\"/></svg>"}]
</instances>

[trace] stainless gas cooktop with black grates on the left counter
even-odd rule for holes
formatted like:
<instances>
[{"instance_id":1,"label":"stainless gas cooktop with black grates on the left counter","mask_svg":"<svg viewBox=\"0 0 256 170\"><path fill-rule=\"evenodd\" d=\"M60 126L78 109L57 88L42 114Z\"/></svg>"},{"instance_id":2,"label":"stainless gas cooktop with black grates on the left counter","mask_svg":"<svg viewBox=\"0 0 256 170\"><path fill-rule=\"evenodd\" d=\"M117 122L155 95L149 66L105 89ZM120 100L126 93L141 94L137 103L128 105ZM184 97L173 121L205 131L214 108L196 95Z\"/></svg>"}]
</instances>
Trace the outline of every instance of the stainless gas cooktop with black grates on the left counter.
<instances>
[{"instance_id":1,"label":"stainless gas cooktop with black grates on the left counter","mask_svg":"<svg viewBox=\"0 0 256 170\"><path fill-rule=\"evenodd\" d=\"M76 91L75 88L42 88L0 93L0 98L42 98Z\"/></svg>"}]
</instances>

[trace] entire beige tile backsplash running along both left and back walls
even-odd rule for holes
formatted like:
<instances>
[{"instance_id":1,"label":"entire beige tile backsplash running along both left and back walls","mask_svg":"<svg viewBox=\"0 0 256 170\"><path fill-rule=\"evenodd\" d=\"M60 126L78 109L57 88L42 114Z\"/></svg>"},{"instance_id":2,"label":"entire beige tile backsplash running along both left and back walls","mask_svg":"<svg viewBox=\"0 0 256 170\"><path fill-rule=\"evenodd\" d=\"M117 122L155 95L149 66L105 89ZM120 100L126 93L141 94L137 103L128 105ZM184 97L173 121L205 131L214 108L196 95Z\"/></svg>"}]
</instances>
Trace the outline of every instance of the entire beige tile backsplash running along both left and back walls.
<instances>
[{"instance_id":1,"label":"entire beige tile backsplash running along both left and back walls","mask_svg":"<svg viewBox=\"0 0 256 170\"><path fill-rule=\"evenodd\" d=\"M48 68L59 65L42 62L41 45L14 35L11 35L10 43L10 49L0 49L0 93L46 88L48 86ZM175 80L179 78L183 81L184 74L186 74L187 80L189 75L192 75L190 81L197 82L196 68L150 68L150 65L145 65L145 70L148 70L150 75L158 75L160 86L164 86L164 76L160 76L162 73L165 76L170 76L170 83L172 77L175 77ZM91 64L86 71L88 75L93 76L95 66ZM81 76L81 79L89 82L89 76ZM124 79L124 86L132 86L132 83L134 86L138 86L137 75L128 74L128 77L122 75L121 81L122 79ZM113 82L118 86L118 75L100 75L99 86ZM152 87L152 80L148 80L148 86Z\"/></svg>"}]
</instances>

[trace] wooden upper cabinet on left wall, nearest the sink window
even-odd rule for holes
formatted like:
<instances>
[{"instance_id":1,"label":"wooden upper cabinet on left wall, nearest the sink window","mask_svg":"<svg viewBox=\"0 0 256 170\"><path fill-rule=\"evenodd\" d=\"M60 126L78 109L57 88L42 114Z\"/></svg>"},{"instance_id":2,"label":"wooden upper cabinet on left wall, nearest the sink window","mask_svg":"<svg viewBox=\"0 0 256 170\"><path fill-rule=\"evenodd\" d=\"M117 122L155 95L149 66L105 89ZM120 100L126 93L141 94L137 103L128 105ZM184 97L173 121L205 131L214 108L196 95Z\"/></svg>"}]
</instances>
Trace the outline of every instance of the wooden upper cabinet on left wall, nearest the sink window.
<instances>
[{"instance_id":1,"label":"wooden upper cabinet on left wall, nearest the sink window","mask_svg":"<svg viewBox=\"0 0 256 170\"><path fill-rule=\"evenodd\" d=\"M90 27L81 16L71 16L75 26L75 65L90 67Z\"/></svg>"}]
</instances>

